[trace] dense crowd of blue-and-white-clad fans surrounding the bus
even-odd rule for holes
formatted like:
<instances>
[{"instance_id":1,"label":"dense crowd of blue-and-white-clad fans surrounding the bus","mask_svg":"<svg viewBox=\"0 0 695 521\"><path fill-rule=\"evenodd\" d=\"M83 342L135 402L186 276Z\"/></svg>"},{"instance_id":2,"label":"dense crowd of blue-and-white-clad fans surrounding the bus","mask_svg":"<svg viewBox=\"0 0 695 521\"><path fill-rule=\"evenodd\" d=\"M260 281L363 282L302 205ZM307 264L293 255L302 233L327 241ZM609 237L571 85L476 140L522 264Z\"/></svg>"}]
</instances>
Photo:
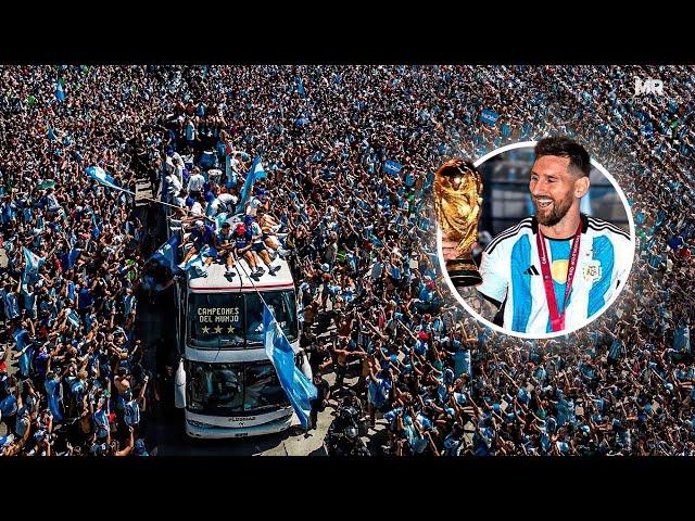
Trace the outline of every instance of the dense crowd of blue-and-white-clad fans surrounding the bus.
<instances>
[{"instance_id":1,"label":"dense crowd of blue-and-white-clad fans surrounding the bus","mask_svg":"<svg viewBox=\"0 0 695 521\"><path fill-rule=\"evenodd\" d=\"M149 179L180 208L167 214L192 225L194 253L230 241L214 234L217 218L244 206L249 244L238 257L256 276L289 258L302 346L315 373L336 373L331 401L358 377L352 391L387 434L374 452L695 452L692 67L0 74L2 454L147 454L143 423L160 393L135 334L137 298L167 280L146 263L159 244L132 198L85 176L89 165L132 191ZM664 96L635 96L634 76L660 78ZM500 114L495 125L480 120L483 110ZM637 251L602 318L559 339L521 341L485 329L448 294L430 188L448 157L557 134L619 181ZM247 202L241 188L256 156L267 177ZM23 246L45 259L38 270Z\"/></svg>"}]
</instances>

